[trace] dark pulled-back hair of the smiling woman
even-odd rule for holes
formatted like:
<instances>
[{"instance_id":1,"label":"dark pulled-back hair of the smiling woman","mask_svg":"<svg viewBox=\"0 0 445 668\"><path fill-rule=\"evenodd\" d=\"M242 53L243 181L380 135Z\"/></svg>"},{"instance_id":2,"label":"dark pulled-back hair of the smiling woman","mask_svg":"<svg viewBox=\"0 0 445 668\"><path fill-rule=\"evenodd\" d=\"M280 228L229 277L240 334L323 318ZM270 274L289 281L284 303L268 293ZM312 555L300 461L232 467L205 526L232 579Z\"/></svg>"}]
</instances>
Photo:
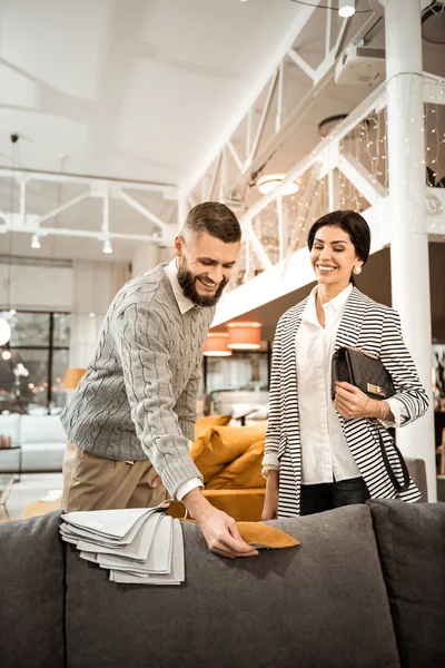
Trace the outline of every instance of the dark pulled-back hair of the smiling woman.
<instances>
[{"instance_id":1,"label":"dark pulled-back hair of the smiling woman","mask_svg":"<svg viewBox=\"0 0 445 668\"><path fill-rule=\"evenodd\" d=\"M329 214L318 218L318 220L316 220L309 229L309 235L307 237L309 250L313 249L315 235L317 234L318 229L325 227L326 225L339 227L343 229L343 232L346 232L353 243L355 254L359 259L362 259L363 264L366 264L369 257L370 230L368 224L366 223L365 218L360 216L360 214L347 209L345 212L330 212ZM355 285L353 275L350 276L350 283Z\"/></svg>"}]
</instances>

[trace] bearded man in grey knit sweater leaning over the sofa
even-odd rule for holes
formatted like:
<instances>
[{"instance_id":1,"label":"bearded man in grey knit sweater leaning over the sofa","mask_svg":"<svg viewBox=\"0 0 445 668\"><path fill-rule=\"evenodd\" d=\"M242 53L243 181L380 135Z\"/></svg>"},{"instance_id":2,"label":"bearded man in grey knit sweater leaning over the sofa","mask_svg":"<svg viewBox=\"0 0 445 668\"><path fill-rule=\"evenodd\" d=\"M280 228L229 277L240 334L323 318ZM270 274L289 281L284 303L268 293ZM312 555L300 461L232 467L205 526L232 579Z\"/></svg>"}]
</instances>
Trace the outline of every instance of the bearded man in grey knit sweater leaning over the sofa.
<instances>
[{"instance_id":1,"label":"bearded man in grey knit sweater leaning over the sofa","mask_svg":"<svg viewBox=\"0 0 445 668\"><path fill-rule=\"evenodd\" d=\"M148 508L184 502L211 551L256 554L201 493L189 455L202 347L240 247L224 204L190 210L175 258L129 281L112 301L88 365L61 414L68 435L62 507Z\"/></svg>"}]
</instances>

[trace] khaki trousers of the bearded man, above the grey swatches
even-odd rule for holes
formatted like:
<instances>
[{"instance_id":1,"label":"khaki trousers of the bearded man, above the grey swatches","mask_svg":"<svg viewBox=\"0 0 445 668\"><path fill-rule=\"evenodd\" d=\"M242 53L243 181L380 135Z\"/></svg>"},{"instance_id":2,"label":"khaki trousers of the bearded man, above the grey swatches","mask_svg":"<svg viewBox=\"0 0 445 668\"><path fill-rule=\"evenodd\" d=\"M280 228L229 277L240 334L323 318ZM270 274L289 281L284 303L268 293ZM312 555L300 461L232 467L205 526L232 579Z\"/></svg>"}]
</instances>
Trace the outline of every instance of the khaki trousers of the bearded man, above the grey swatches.
<instances>
[{"instance_id":1,"label":"khaki trousers of the bearded man, above the grey swatches","mask_svg":"<svg viewBox=\"0 0 445 668\"><path fill-rule=\"evenodd\" d=\"M165 487L151 487L156 475L148 460L131 464L103 459L68 441L63 459L62 509L73 512L152 508L167 498Z\"/></svg>"}]
</instances>

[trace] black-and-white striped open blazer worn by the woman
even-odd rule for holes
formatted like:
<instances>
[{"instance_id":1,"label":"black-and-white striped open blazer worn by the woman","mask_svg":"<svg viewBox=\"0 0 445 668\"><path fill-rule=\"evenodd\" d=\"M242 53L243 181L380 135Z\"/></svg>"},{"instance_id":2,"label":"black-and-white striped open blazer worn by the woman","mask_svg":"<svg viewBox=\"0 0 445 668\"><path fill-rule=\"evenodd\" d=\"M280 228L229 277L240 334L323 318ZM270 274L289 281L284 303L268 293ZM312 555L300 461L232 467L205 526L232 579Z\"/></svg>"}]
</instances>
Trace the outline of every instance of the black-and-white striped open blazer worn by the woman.
<instances>
[{"instance_id":1,"label":"black-and-white striped open blazer worn by the woman","mask_svg":"<svg viewBox=\"0 0 445 668\"><path fill-rule=\"evenodd\" d=\"M306 303L307 298L286 311L278 322L274 341L265 452L275 452L278 455L278 517L281 518L299 514L301 449L295 337ZM404 344L400 318L393 308L373 302L354 287L338 326L335 350L344 345L357 346L380 357L393 379L397 399L405 405L405 412L409 415L402 426L425 413L428 399ZM403 482L402 468L387 430L376 421L369 422L366 419L344 420L339 415L339 420L370 498L417 501L421 493L413 481L405 492L397 492L386 472L377 429L387 446L392 466Z\"/></svg>"}]
</instances>

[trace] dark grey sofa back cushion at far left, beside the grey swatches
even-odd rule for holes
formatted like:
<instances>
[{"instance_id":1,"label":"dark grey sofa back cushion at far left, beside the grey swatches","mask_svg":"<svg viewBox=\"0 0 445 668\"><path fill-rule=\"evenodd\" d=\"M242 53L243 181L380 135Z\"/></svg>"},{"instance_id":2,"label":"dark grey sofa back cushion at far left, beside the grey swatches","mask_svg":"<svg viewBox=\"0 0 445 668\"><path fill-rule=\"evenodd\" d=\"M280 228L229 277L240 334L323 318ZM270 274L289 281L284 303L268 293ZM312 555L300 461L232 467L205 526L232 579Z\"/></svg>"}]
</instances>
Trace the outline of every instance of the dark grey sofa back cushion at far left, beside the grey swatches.
<instances>
[{"instance_id":1,"label":"dark grey sofa back cushion at far left, beside the grey swatches","mask_svg":"<svg viewBox=\"0 0 445 668\"><path fill-rule=\"evenodd\" d=\"M62 668L65 567L59 514L0 523L0 666Z\"/></svg>"}]
</instances>

